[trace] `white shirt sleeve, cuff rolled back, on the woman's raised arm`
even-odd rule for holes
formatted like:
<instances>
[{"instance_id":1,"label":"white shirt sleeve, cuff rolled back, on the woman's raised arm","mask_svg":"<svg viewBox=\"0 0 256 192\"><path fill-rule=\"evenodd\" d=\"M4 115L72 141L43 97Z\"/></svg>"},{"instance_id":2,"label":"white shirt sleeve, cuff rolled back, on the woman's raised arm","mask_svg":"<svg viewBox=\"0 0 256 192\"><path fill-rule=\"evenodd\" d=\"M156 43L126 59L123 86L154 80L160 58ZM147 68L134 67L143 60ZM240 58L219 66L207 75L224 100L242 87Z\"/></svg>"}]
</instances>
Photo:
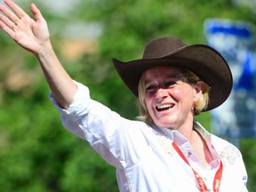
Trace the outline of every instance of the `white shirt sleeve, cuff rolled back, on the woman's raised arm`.
<instances>
[{"instance_id":1,"label":"white shirt sleeve, cuff rolled back, on the woman's raised arm","mask_svg":"<svg viewBox=\"0 0 256 192\"><path fill-rule=\"evenodd\" d=\"M76 96L68 109L60 108L50 93L50 99L59 110L64 127L87 140L109 164L116 167L134 164L143 153L138 146L143 140L147 145L145 132L149 132L148 125L125 119L111 111L100 102L92 100L84 84L75 83Z\"/></svg>"}]
</instances>

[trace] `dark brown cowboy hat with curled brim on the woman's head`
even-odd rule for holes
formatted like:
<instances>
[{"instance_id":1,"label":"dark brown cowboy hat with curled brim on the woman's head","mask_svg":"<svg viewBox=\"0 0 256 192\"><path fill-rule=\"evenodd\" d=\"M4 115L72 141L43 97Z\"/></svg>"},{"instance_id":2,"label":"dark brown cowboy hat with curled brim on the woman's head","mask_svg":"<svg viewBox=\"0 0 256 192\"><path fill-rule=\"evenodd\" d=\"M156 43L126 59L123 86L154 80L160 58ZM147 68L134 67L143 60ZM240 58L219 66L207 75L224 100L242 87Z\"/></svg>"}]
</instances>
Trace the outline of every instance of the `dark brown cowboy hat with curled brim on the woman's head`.
<instances>
[{"instance_id":1,"label":"dark brown cowboy hat with curled brim on the woman's head","mask_svg":"<svg viewBox=\"0 0 256 192\"><path fill-rule=\"evenodd\" d=\"M162 37L146 44L143 58L122 62L113 59L124 84L138 97L141 74L148 68L173 66L187 68L211 87L205 111L219 107L231 92L233 79L228 63L219 52L204 44L187 45L176 37Z\"/></svg>"}]
</instances>

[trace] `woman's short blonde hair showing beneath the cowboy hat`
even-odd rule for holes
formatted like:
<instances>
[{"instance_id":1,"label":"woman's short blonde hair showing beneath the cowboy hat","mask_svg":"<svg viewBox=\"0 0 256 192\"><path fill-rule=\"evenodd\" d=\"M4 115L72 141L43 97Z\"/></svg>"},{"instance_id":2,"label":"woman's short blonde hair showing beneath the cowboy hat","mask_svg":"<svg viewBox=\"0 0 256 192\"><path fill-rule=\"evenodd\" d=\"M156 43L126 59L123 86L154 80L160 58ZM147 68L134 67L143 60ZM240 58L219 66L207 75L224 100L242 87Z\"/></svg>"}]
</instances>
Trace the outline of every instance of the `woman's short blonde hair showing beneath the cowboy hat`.
<instances>
[{"instance_id":1,"label":"woman's short blonde hair showing beneath the cowboy hat","mask_svg":"<svg viewBox=\"0 0 256 192\"><path fill-rule=\"evenodd\" d=\"M196 76L195 73L192 71L189 71L187 69L180 69L181 74L184 76L183 81L190 84L191 86L196 87L196 83L200 81L201 79L199 76ZM146 107L145 102L145 95L146 95L146 87L145 87L145 81L146 81L146 73L144 72L140 76L140 82L138 84L138 92L139 92L139 112L140 116L138 116L138 119L140 119L143 122L146 123L153 123L153 120L151 116L148 114L148 109ZM194 116L198 116L205 108L207 108L209 103L209 92L211 88L208 84L204 83L204 88L202 91L201 98L194 104Z\"/></svg>"}]
</instances>

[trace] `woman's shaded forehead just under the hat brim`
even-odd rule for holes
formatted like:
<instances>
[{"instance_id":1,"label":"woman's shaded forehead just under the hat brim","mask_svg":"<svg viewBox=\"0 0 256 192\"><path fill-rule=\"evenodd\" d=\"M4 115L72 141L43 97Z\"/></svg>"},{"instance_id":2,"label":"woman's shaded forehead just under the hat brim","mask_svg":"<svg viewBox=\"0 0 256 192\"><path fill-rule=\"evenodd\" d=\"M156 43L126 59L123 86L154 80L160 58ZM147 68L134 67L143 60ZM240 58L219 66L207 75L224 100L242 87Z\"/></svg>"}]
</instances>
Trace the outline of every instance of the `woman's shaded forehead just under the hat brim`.
<instances>
[{"instance_id":1,"label":"woman's shaded forehead just under the hat brim","mask_svg":"<svg viewBox=\"0 0 256 192\"><path fill-rule=\"evenodd\" d=\"M163 79L163 78L177 78L182 75L180 68L163 66L156 68L149 68L145 72L146 81L150 81L151 79Z\"/></svg>"}]
</instances>

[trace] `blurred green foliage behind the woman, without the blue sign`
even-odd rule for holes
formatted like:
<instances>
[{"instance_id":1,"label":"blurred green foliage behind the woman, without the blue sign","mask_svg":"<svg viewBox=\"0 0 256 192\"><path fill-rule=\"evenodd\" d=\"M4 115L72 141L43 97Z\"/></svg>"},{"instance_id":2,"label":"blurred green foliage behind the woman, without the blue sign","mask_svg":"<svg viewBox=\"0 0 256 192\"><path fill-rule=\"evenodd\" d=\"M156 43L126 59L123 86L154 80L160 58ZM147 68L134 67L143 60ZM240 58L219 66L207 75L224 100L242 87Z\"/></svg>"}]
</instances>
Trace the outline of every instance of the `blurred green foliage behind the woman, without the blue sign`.
<instances>
[{"instance_id":1,"label":"blurred green foliage behind the woman, without the blue sign","mask_svg":"<svg viewBox=\"0 0 256 192\"><path fill-rule=\"evenodd\" d=\"M136 100L117 76L112 57L140 59L144 44L159 36L180 36L188 44L204 43L204 20L208 18L256 23L248 7L236 7L230 0L80 1L70 4L74 5L73 11L61 16L50 12L41 1L37 4L50 24L58 53L65 23L100 22L104 31L97 54L86 54L70 62L59 54L60 60L74 79L90 87L93 99L132 119L138 114ZM28 10L28 2L24 1L22 7ZM47 98L49 89L36 59L20 51L2 32L0 44L1 191L117 191L114 168L86 141L63 130L60 115ZM13 68L28 72L30 84L18 90L8 85ZM211 129L209 113L196 118ZM255 191L255 140L243 139L240 145L249 173L248 186Z\"/></svg>"}]
</instances>

